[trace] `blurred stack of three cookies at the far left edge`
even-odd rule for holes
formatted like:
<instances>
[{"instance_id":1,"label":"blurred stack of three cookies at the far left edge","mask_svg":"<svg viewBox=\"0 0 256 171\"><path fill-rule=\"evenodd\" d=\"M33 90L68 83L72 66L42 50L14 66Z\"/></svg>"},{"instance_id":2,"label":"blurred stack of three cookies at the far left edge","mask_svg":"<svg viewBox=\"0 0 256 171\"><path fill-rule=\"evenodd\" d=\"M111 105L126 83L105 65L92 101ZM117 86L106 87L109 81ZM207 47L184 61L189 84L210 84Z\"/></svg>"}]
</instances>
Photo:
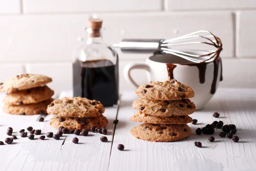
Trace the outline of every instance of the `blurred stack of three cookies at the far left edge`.
<instances>
[{"instance_id":1,"label":"blurred stack of three cookies at the far left edge","mask_svg":"<svg viewBox=\"0 0 256 171\"><path fill-rule=\"evenodd\" d=\"M5 113L35 115L47 113L47 105L54 91L46 86L52 78L37 74L17 75L0 83L0 92L6 92L3 102Z\"/></svg>"}]
</instances>

